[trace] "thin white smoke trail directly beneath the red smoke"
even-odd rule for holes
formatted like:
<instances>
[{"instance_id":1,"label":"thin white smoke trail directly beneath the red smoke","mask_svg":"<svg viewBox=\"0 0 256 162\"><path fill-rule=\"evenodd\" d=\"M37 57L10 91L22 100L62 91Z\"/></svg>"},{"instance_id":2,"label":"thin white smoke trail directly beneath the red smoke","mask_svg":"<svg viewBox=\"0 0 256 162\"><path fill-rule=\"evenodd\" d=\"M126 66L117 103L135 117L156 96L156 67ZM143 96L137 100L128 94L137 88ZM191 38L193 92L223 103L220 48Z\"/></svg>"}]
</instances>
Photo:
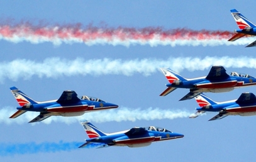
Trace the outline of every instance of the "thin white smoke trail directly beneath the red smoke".
<instances>
[{"instance_id":1,"label":"thin white smoke trail directly beneath the red smoke","mask_svg":"<svg viewBox=\"0 0 256 162\"><path fill-rule=\"evenodd\" d=\"M108 39L103 39L103 38L97 38L94 40L87 40L83 41L81 39L60 39L60 38L54 38L54 39L48 39L48 38L43 38L43 37L17 37L14 36L13 38L4 38L3 36L0 35L0 40L5 40L9 41L12 43L21 43L23 41L27 41L33 44L38 44L38 43L53 43L55 46L59 46L62 43L65 44L74 44L74 43L84 43L87 46L94 46L97 44L101 45L112 45L112 46L132 46L132 45L149 45L151 47L155 46L239 46L239 45L248 45L255 41L255 38L250 37L250 38L241 38L238 39L237 41L227 41L227 39L206 39L206 40L198 40L198 39L175 39L175 40L165 40L163 41L160 38L153 38L148 41L143 41L143 40L121 40L121 39L112 39L109 41Z\"/></svg>"}]
</instances>

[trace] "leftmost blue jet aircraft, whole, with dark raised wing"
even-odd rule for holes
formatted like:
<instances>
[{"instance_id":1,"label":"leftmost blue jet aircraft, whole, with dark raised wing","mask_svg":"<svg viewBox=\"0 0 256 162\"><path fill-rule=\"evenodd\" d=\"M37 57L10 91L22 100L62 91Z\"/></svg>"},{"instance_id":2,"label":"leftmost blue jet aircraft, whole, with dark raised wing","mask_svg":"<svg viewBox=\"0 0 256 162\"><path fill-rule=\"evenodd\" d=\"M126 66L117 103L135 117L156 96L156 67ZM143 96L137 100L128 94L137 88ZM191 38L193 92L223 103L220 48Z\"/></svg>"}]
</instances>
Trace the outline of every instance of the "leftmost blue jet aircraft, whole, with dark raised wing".
<instances>
[{"instance_id":1,"label":"leftmost blue jet aircraft, whole, with dark raised wing","mask_svg":"<svg viewBox=\"0 0 256 162\"><path fill-rule=\"evenodd\" d=\"M19 103L17 107L18 111L10 118L17 118L21 114L26 113L26 111L40 112L40 114L29 123L42 121L50 116L81 116L86 112L118 108L118 105L106 103L99 98L89 96L78 98L77 93L70 90L64 91L59 99L38 102L28 97L16 87L11 87L10 89L14 98L16 98Z\"/></svg>"}]
</instances>

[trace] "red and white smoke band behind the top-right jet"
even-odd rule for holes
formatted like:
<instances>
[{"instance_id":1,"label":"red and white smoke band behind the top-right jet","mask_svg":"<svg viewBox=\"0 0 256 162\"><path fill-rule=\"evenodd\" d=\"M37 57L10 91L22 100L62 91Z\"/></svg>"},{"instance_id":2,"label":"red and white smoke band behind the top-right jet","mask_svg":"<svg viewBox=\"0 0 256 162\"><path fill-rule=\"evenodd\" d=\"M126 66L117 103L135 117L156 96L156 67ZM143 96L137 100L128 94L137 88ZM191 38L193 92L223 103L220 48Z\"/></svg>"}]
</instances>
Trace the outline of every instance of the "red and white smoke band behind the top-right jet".
<instances>
[{"instance_id":1,"label":"red and white smoke band behind the top-right jet","mask_svg":"<svg viewBox=\"0 0 256 162\"><path fill-rule=\"evenodd\" d=\"M62 43L85 43L88 46L94 44L111 44L113 46L130 46L135 44L150 46L220 46L220 45L245 45L253 41L253 38L242 38L235 42L227 40L233 36L230 31L200 31L177 28L98 28L88 25L85 28L81 24L38 25L33 26L29 22L19 24L1 24L0 40L19 43L50 42L55 45Z\"/></svg>"}]
</instances>

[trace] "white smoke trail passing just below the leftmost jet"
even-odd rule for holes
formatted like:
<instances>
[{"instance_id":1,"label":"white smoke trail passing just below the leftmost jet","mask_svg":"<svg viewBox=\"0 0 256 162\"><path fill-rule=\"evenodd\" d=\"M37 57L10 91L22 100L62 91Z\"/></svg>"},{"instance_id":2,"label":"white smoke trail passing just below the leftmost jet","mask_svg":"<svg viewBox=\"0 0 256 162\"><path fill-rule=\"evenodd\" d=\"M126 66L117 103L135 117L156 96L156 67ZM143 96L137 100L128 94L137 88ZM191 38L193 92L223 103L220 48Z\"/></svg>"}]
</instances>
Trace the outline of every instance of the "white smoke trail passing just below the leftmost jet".
<instances>
[{"instance_id":1,"label":"white smoke trail passing just below the leftmost jet","mask_svg":"<svg viewBox=\"0 0 256 162\"><path fill-rule=\"evenodd\" d=\"M3 108L0 110L0 123L28 123L31 119L38 116L39 113L26 112L18 118L9 119L11 114L15 113L14 108ZM108 121L137 121L137 120L155 120L155 119L175 119L175 118L188 118L192 112L187 110L171 110L171 109L160 109L160 108L118 108L109 109L108 111L96 111L92 113L85 113L82 116L75 117L64 117L64 116L51 116L43 120L45 124L50 124L52 122L60 122L65 124L77 123L77 121L92 121L96 123L103 123ZM41 123L42 123L41 122Z\"/></svg>"}]
</instances>

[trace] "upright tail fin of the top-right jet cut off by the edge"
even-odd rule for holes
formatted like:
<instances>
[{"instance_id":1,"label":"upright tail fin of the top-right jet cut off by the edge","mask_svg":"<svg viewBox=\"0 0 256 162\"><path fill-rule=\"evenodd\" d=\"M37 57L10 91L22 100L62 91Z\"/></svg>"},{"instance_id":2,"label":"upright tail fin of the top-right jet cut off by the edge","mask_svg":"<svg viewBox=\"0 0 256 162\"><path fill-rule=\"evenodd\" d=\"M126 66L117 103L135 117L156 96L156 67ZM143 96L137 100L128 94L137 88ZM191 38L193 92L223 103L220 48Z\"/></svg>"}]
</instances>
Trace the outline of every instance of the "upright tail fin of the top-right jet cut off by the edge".
<instances>
[{"instance_id":1,"label":"upright tail fin of the top-right jet cut off by the edge","mask_svg":"<svg viewBox=\"0 0 256 162\"><path fill-rule=\"evenodd\" d=\"M245 18L245 16L239 13L237 9L231 9L230 11L240 29L256 27L255 24L253 24L251 21Z\"/></svg>"}]
</instances>

